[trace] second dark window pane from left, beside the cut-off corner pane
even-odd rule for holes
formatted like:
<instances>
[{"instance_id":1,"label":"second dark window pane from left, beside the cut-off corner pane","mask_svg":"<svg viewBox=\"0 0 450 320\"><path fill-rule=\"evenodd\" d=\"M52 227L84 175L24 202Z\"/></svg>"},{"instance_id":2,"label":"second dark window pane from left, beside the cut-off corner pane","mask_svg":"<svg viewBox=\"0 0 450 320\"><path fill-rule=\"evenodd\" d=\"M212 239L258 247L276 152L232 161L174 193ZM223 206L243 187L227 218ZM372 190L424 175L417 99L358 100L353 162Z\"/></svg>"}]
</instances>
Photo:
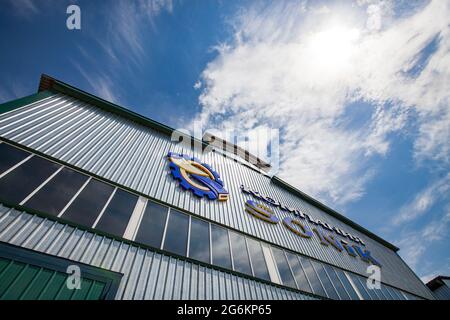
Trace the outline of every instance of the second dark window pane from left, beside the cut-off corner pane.
<instances>
[{"instance_id":1,"label":"second dark window pane from left, beside the cut-off corner pane","mask_svg":"<svg viewBox=\"0 0 450 320\"><path fill-rule=\"evenodd\" d=\"M54 162L33 156L0 179L0 198L11 203L20 203L58 167Z\"/></svg>"}]
</instances>

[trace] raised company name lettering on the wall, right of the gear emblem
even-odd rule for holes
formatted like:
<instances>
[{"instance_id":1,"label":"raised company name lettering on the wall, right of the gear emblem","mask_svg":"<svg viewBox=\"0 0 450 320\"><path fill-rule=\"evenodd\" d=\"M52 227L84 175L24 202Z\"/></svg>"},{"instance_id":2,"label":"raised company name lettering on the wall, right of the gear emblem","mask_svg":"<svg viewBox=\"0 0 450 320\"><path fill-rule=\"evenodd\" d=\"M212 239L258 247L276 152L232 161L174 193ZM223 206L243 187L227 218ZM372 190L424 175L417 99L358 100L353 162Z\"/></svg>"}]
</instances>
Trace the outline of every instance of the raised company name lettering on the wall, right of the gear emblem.
<instances>
[{"instance_id":1,"label":"raised company name lettering on the wall, right of the gear emblem","mask_svg":"<svg viewBox=\"0 0 450 320\"><path fill-rule=\"evenodd\" d=\"M341 230L340 228L331 227L328 223L316 220L313 217L309 216L308 214L303 213L301 210L283 206L280 202L275 201L270 197L263 196L259 194L259 192L257 191L246 189L244 186L241 186L241 189L243 192L251 194L257 199L263 200L265 203L269 205L279 207L284 211L293 213L295 217L289 216L285 217L282 220L282 224L285 228L287 228L289 231L293 232L297 236L305 239L310 239L316 236L323 246L331 246L339 252L347 252L347 254L352 257L359 256L363 261L381 267L381 264L371 255L369 250L362 249L359 245L350 245L347 241L340 239L334 234L327 234L322 229L334 231L336 234L342 237L347 237L348 239L357 242L358 244L365 245L363 241L358 237L353 236ZM255 218L258 218L265 222L269 222L272 224L277 224L279 222L279 218L275 216L274 212L270 208L268 208L265 205L258 204L253 200L246 201L245 211L247 213L250 213ZM315 226L311 229L307 224L302 222L300 219L308 220ZM319 226L321 228L319 228Z\"/></svg>"}]
</instances>

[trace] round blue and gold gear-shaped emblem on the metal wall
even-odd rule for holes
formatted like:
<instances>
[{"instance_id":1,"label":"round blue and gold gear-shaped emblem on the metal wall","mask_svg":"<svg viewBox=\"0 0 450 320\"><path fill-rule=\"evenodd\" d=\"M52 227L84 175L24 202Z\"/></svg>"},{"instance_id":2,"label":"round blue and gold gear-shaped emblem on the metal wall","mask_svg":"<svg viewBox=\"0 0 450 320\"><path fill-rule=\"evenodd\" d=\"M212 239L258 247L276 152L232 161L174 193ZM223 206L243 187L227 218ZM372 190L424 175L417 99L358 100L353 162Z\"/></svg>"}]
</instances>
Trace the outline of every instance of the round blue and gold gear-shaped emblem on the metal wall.
<instances>
[{"instance_id":1,"label":"round blue and gold gear-shaped emblem on the metal wall","mask_svg":"<svg viewBox=\"0 0 450 320\"><path fill-rule=\"evenodd\" d=\"M191 190L197 197L210 200L228 200L228 191L224 188L219 174L206 163L185 154L169 152L172 176L180 181L180 186Z\"/></svg>"}]
</instances>

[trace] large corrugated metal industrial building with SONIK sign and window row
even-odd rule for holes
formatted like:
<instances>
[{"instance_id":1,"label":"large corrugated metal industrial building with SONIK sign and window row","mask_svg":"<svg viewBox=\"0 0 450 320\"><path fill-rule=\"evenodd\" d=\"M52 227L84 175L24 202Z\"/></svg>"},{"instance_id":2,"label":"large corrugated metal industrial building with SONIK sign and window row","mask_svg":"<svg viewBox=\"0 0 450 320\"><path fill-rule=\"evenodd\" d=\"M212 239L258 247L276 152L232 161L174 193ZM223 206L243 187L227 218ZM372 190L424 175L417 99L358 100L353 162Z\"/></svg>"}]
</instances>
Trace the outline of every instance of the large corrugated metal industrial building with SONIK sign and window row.
<instances>
[{"instance_id":1,"label":"large corrugated metal industrial building with SONIK sign and window row","mask_svg":"<svg viewBox=\"0 0 450 320\"><path fill-rule=\"evenodd\" d=\"M47 75L1 105L0 299L434 299L269 163L173 131Z\"/></svg>"}]
</instances>

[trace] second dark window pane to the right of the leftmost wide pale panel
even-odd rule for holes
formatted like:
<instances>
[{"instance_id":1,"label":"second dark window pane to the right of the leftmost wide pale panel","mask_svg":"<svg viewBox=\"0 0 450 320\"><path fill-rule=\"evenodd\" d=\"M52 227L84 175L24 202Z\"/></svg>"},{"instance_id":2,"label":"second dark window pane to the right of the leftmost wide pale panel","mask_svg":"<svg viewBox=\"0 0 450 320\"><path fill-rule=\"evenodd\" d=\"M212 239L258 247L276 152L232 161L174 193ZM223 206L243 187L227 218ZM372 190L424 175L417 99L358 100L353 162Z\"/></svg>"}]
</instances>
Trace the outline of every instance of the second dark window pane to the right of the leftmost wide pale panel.
<instances>
[{"instance_id":1,"label":"second dark window pane to the right of the leftmost wide pale panel","mask_svg":"<svg viewBox=\"0 0 450 320\"><path fill-rule=\"evenodd\" d=\"M164 250L185 256L188 227L189 216L172 209L164 239Z\"/></svg>"}]
</instances>

